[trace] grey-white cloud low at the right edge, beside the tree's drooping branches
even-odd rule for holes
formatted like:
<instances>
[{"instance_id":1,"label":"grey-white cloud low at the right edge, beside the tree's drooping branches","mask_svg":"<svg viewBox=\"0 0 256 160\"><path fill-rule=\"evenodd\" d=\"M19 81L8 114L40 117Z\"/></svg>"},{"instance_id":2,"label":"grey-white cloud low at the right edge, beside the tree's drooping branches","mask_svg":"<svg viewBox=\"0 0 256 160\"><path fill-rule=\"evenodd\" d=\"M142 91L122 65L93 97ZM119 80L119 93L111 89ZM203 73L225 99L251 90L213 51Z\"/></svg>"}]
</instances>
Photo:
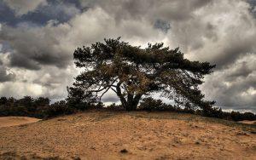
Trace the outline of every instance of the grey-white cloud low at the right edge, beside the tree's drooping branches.
<instances>
[{"instance_id":1,"label":"grey-white cloud low at the right edge, beside the tree's drooping branches","mask_svg":"<svg viewBox=\"0 0 256 160\"><path fill-rule=\"evenodd\" d=\"M256 56L245 54L229 68L216 71L203 88L217 105L226 109L250 109L256 111Z\"/></svg>"}]
</instances>

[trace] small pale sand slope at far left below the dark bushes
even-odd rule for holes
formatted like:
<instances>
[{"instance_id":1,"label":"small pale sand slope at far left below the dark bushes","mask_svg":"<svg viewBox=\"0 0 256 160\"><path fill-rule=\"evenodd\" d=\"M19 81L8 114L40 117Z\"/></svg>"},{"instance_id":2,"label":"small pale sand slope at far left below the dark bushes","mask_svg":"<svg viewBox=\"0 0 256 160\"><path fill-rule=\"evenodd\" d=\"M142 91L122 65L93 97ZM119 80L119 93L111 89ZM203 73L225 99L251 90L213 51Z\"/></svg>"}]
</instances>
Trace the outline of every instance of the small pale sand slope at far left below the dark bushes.
<instances>
[{"instance_id":1,"label":"small pale sand slope at far left below the dark bushes","mask_svg":"<svg viewBox=\"0 0 256 160\"><path fill-rule=\"evenodd\" d=\"M0 117L0 128L26 123L36 123L38 121L40 121L40 119L34 117Z\"/></svg>"}]
</instances>

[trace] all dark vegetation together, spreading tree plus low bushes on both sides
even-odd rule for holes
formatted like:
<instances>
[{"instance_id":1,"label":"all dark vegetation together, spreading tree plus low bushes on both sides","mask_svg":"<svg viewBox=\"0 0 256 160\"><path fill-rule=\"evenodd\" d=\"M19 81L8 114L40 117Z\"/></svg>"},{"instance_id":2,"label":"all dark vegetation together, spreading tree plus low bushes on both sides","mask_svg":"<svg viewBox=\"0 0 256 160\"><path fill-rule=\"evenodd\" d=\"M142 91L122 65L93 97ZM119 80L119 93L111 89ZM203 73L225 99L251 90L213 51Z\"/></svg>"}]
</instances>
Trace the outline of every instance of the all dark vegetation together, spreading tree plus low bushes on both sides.
<instances>
[{"instance_id":1,"label":"all dark vegetation together, spreading tree plus low bushes on both sides","mask_svg":"<svg viewBox=\"0 0 256 160\"><path fill-rule=\"evenodd\" d=\"M177 111L218 117L228 120L256 120L250 112L224 112L213 107L214 101L204 100L199 85L214 65L184 59L179 49L169 49L163 43L148 43L146 49L131 46L117 39L105 39L90 47L78 48L73 54L75 65L84 69L67 87L66 100L49 103L49 98L20 100L2 97L0 116L49 118L89 109L112 111ZM102 96L115 93L121 105L104 106ZM160 93L172 99L168 105L148 97ZM142 100L142 97L144 98Z\"/></svg>"}]
</instances>

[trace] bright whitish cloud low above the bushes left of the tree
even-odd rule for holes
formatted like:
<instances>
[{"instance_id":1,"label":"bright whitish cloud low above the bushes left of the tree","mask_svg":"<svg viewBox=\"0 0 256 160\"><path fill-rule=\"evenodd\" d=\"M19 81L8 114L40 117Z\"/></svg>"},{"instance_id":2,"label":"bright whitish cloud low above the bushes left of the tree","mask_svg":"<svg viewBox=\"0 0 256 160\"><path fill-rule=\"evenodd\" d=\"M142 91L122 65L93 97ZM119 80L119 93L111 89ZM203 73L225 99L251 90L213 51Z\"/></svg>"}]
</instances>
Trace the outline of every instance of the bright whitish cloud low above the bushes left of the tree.
<instances>
[{"instance_id":1,"label":"bright whitish cloud low above the bushes left of the tree","mask_svg":"<svg viewBox=\"0 0 256 160\"><path fill-rule=\"evenodd\" d=\"M32 95L57 100L67 97L67 86L72 85L73 77L78 74L73 66L66 69L46 66L40 71L12 68L11 72L16 79L14 82L0 83L0 96L20 98Z\"/></svg>"}]
</instances>

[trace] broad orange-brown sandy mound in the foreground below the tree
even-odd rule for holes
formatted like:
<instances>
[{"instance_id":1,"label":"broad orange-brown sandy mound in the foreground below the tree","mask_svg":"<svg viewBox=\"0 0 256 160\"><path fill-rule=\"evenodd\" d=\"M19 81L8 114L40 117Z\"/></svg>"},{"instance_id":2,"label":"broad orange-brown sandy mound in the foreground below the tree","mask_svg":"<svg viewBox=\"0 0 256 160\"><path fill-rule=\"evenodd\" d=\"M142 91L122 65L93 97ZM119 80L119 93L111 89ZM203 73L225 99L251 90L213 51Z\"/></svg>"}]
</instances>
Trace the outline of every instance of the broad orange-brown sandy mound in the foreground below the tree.
<instances>
[{"instance_id":1,"label":"broad orange-brown sandy mound in the foreground below the tree","mask_svg":"<svg viewBox=\"0 0 256 160\"><path fill-rule=\"evenodd\" d=\"M0 159L256 159L256 126L178 113L88 111L0 129Z\"/></svg>"}]
</instances>

